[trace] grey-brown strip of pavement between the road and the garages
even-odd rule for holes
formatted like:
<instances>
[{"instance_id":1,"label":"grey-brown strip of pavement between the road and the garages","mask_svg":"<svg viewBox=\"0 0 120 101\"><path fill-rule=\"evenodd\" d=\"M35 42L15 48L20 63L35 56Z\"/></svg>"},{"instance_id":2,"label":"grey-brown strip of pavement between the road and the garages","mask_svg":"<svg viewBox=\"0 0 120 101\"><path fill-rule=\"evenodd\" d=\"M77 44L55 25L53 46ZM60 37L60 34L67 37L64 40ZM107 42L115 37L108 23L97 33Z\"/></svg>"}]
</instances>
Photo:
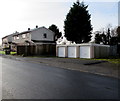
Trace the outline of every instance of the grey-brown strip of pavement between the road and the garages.
<instances>
[{"instance_id":1,"label":"grey-brown strip of pavement between the road and the garages","mask_svg":"<svg viewBox=\"0 0 120 101\"><path fill-rule=\"evenodd\" d=\"M5 58L15 59L18 61L27 61L31 63L43 63L58 68L70 69L81 72L88 72L97 75L119 78L120 65L109 63L101 60L91 59L72 59L72 58L56 58L56 57L21 57L3 55Z\"/></svg>"}]
</instances>

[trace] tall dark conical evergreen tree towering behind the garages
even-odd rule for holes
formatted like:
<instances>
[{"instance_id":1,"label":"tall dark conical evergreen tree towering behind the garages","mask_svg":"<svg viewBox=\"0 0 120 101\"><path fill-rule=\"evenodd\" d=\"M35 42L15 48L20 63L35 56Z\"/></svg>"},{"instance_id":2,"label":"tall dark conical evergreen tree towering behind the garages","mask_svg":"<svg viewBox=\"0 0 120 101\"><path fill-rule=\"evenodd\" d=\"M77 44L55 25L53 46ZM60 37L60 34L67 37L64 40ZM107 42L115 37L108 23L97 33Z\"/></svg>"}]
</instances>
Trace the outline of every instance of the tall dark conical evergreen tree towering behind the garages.
<instances>
[{"instance_id":1,"label":"tall dark conical evergreen tree towering behind the garages","mask_svg":"<svg viewBox=\"0 0 120 101\"><path fill-rule=\"evenodd\" d=\"M67 40L76 43L85 43L91 40L90 14L83 2L77 1L71 7L64 21L64 31Z\"/></svg>"}]
</instances>

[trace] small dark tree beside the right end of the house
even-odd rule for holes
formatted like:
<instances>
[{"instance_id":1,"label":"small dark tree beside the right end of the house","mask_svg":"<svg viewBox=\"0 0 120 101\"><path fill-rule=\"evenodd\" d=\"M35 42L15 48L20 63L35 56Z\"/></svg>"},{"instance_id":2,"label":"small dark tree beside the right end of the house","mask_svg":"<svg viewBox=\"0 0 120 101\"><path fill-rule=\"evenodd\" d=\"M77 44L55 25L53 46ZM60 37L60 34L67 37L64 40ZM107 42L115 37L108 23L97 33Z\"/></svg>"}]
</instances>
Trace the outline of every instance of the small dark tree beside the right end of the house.
<instances>
[{"instance_id":1,"label":"small dark tree beside the right end of the house","mask_svg":"<svg viewBox=\"0 0 120 101\"><path fill-rule=\"evenodd\" d=\"M52 24L49 26L49 29L55 33L54 40L57 41L58 38L62 36L62 33L59 31L56 25Z\"/></svg>"}]
</instances>

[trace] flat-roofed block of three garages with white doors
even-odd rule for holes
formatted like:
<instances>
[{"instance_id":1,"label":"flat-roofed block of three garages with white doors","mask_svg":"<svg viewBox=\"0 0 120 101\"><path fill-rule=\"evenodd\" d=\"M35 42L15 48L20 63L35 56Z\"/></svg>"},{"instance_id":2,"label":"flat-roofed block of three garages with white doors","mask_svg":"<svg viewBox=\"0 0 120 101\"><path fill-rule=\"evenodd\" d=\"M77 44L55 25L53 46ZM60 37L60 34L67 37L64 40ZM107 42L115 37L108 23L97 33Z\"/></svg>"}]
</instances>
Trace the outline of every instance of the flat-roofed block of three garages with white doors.
<instances>
[{"instance_id":1,"label":"flat-roofed block of three garages with white doors","mask_svg":"<svg viewBox=\"0 0 120 101\"><path fill-rule=\"evenodd\" d=\"M109 45L100 45L93 43L57 45L56 55L58 57L69 58L105 58L110 54Z\"/></svg>"}]
</instances>

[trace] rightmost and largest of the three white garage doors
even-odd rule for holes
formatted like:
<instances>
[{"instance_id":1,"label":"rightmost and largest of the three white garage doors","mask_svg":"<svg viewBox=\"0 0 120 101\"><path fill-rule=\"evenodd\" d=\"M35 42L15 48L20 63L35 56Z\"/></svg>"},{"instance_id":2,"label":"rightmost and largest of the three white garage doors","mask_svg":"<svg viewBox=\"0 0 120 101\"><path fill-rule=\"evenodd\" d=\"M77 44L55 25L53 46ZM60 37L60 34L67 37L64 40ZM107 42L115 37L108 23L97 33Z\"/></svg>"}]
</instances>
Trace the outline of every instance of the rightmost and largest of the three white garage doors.
<instances>
[{"instance_id":1,"label":"rightmost and largest of the three white garage doors","mask_svg":"<svg viewBox=\"0 0 120 101\"><path fill-rule=\"evenodd\" d=\"M90 58L90 46L80 46L80 58Z\"/></svg>"}]
</instances>

